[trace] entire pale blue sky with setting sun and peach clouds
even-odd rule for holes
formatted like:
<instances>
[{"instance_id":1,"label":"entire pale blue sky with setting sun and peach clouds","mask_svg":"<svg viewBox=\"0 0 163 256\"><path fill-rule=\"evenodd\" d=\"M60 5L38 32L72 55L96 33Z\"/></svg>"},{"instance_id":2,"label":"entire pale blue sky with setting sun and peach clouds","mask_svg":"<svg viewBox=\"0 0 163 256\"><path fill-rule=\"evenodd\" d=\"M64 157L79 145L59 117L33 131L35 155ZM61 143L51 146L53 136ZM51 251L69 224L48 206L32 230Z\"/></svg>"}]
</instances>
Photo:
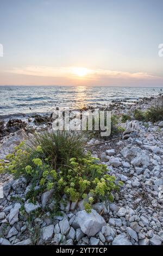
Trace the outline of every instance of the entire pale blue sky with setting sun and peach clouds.
<instances>
[{"instance_id":1,"label":"entire pale blue sky with setting sun and peach clouds","mask_svg":"<svg viewBox=\"0 0 163 256\"><path fill-rule=\"evenodd\" d=\"M0 0L0 85L163 87L162 24L162 0Z\"/></svg>"}]
</instances>

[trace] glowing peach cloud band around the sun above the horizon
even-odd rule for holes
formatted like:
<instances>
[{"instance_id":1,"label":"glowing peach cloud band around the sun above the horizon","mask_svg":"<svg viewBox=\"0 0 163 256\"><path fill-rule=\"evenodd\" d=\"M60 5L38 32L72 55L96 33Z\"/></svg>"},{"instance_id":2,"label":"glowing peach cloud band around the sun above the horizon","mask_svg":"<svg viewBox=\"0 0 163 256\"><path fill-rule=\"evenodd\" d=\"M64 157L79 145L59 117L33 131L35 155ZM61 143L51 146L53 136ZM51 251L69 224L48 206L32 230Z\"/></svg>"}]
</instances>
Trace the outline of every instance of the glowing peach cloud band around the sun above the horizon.
<instances>
[{"instance_id":1,"label":"glowing peach cloud band around the sun above the horizon","mask_svg":"<svg viewBox=\"0 0 163 256\"><path fill-rule=\"evenodd\" d=\"M60 86L162 86L163 83L162 77L154 76L147 72L132 73L74 66L26 66L24 68L14 68L7 72L8 76L9 74L16 76L15 81L20 81L19 79L26 81L23 84L58 84Z\"/></svg>"}]
</instances>

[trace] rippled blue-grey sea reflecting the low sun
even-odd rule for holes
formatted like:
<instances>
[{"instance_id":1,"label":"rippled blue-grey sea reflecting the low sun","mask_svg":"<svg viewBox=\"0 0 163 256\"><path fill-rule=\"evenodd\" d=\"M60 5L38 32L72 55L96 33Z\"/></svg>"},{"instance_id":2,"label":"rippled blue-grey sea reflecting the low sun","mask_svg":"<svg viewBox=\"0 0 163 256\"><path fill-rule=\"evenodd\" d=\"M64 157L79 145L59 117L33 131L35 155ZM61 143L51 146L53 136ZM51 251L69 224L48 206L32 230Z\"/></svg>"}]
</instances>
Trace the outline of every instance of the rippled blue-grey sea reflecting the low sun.
<instances>
[{"instance_id":1,"label":"rippled blue-grey sea reflecting the low sun","mask_svg":"<svg viewBox=\"0 0 163 256\"><path fill-rule=\"evenodd\" d=\"M139 100L158 95L161 88L0 86L0 118L18 113L48 113L54 107L108 105L112 100Z\"/></svg>"}]
</instances>

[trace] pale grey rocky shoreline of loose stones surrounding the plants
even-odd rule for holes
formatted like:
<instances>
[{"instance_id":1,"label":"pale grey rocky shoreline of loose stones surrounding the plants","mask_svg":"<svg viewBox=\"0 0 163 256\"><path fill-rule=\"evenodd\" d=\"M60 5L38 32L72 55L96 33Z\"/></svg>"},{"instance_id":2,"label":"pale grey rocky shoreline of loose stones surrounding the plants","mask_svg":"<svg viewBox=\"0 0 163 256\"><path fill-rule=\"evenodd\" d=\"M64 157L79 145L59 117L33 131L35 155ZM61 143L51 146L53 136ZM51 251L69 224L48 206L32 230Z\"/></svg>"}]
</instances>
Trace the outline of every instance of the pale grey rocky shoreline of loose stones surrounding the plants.
<instances>
[{"instance_id":1,"label":"pale grey rocky shoreline of loose stones surrounding the plants","mask_svg":"<svg viewBox=\"0 0 163 256\"><path fill-rule=\"evenodd\" d=\"M136 108L147 109L155 99L145 98L130 105L112 102L107 109L121 117ZM41 127L45 123L51 126L51 117L46 121L45 117L34 118L41 120ZM31 125L34 120L0 123L1 159L20 143L24 132L33 127L40 129ZM92 138L85 148L108 166L110 175L123 181L121 191L114 194L114 202L96 203L90 214L84 210L83 200L68 202L60 205L62 216L45 211L32 222L32 212L53 203L53 191L41 194L33 204L26 200L26 179L13 180L9 174L0 174L1 245L162 245L163 121L121 123L120 118L118 123L126 130L123 139L115 136L115 141L104 142Z\"/></svg>"}]
</instances>

